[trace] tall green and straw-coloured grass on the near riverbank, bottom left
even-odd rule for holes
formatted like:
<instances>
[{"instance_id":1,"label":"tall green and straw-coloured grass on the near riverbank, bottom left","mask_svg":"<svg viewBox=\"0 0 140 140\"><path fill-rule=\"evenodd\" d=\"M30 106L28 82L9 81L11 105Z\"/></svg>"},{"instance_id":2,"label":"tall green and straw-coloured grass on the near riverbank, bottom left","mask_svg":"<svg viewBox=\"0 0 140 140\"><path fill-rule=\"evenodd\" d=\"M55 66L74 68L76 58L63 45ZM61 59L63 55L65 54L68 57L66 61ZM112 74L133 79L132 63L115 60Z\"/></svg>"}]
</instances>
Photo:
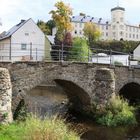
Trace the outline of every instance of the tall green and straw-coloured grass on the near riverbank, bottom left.
<instances>
[{"instance_id":1,"label":"tall green and straw-coloured grass on the near riverbank, bottom left","mask_svg":"<svg viewBox=\"0 0 140 140\"><path fill-rule=\"evenodd\" d=\"M1 125L0 140L80 140L80 136L64 120L30 116L24 122Z\"/></svg>"}]
</instances>

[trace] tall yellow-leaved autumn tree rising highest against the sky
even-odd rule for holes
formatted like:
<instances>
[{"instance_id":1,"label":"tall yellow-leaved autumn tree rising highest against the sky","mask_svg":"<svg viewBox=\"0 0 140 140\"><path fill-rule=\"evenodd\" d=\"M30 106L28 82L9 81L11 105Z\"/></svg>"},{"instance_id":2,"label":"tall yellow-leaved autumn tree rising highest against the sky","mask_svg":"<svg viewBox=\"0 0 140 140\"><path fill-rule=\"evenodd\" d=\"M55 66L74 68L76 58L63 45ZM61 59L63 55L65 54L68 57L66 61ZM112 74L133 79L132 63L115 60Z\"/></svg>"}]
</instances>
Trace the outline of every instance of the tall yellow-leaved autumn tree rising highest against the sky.
<instances>
[{"instance_id":1,"label":"tall yellow-leaved autumn tree rising highest against the sky","mask_svg":"<svg viewBox=\"0 0 140 140\"><path fill-rule=\"evenodd\" d=\"M70 16L72 15L72 9L69 7L69 5L64 4L64 2L60 1L55 4L56 10L50 11L50 14L52 15L52 19L56 23L57 28L57 35L56 39L59 40L59 42L63 42L64 36L68 31L72 30L72 25L70 22ZM57 38L59 35L62 36L62 38Z\"/></svg>"}]
</instances>

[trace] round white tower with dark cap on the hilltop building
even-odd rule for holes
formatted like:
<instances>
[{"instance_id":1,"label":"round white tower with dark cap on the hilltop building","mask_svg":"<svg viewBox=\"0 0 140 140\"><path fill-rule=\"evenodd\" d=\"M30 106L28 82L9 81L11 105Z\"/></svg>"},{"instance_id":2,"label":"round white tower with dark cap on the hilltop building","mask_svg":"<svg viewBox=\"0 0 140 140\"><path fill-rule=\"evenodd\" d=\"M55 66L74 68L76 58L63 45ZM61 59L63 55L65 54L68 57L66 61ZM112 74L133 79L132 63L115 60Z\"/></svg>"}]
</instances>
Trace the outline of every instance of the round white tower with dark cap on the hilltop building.
<instances>
[{"instance_id":1,"label":"round white tower with dark cap on the hilltop building","mask_svg":"<svg viewBox=\"0 0 140 140\"><path fill-rule=\"evenodd\" d=\"M115 7L111 9L112 39L123 40L125 38L125 9Z\"/></svg>"}]
</instances>

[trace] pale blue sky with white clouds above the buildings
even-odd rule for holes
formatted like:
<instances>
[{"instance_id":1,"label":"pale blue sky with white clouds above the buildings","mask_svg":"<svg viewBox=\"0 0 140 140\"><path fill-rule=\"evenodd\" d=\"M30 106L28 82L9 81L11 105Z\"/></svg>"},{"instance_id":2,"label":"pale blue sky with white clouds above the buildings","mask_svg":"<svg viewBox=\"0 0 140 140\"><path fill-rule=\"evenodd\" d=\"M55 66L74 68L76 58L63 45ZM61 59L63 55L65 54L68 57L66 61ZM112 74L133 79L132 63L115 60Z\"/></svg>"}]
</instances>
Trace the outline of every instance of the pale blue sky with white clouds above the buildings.
<instances>
[{"instance_id":1,"label":"pale blue sky with white clouds above the buildings","mask_svg":"<svg viewBox=\"0 0 140 140\"><path fill-rule=\"evenodd\" d=\"M48 21L49 11L55 9L59 0L0 0L0 32L7 31L21 19L32 18ZM140 24L140 0L62 0L73 9L73 15L80 12L93 17L111 19L110 9L118 5L124 7L125 19L128 23Z\"/></svg>"}]
</instances>

